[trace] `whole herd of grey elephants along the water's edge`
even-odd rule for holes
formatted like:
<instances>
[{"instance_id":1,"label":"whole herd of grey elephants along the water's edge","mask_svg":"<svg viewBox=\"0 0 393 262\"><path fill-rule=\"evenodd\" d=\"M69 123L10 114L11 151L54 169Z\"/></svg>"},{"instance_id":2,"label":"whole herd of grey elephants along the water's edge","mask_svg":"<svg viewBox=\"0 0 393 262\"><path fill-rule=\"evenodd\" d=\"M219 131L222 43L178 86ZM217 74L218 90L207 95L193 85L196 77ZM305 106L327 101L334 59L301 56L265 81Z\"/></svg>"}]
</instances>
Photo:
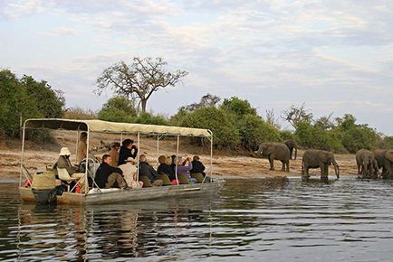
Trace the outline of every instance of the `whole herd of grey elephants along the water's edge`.
<instances>
[{"instance_id":1,"label":"whole herd of grey elephants along the water's edge","mask_svg":"<svg viewBox=\"0 0 393 262\"><path fill-rule=\"evenodd\" d=\"M297 156L297 145L292 139L284 143L268 142L259 145L255 153L263 155L269 159L270 170L274 170L274 160L280 160L283 163L282 171L289 172L289 161ZM367 179L391 179L393 177L393 150L376 149L369 151L360 149L356 153L356 163L358 165L358 174ZM309 149L302 156L302 180L308 181L310 178L310 168L321 169L321 180L328 181L329 165L334 166L334 172L337 178L340 177L340 167L334 159L334 154L329 151Z\"/></svg>"}]
</instances>

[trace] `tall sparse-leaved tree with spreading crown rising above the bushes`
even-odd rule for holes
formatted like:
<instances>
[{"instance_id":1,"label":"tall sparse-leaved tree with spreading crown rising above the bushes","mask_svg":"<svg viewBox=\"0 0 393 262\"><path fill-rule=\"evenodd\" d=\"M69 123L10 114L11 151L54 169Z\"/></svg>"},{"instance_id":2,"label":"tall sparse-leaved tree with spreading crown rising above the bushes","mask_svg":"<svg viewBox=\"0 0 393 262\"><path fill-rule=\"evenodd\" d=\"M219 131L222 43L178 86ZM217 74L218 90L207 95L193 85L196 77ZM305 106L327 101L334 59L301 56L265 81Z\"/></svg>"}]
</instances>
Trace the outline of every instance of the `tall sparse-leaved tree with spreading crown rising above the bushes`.
<instances>
[{"instance_id":1,"label":"tall sparse-leaved tree with spreading crown rising above the bushes","mask_svg":"<svg viewBox=\"0 0 393 262\"><path fill-rule=\"evenodd\" d=\"M169 71L167 65L162 58L136 57L130 64L120 61L102 72L97 79L96 92L100 95L102 90L110 88L129 99L137 98L142 112L146 112L146 105L154 92L175 86L188 74L185 70Z\"/></svg>"}]
</instances>

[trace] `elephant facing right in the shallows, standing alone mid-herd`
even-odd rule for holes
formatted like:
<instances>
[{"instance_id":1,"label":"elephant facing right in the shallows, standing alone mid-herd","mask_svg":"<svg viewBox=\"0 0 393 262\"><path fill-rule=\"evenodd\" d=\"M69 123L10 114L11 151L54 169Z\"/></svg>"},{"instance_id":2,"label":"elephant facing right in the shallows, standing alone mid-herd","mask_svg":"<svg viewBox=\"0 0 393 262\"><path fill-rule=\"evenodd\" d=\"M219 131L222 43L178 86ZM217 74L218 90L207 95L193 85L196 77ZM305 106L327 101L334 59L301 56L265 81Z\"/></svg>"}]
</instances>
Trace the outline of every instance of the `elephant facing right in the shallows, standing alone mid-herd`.
<instances>
[{"instance_id":1,"label":"elephant facing right in the shallows, standing alone mid-herd","mask_svg":"<svg viewBox=\"0 0 393 262\"><path fill-rule=\"evenodd\" d=\"M306 150L302 157L302 180L307 182L310 178L310 168L321 168L321 180L327 182L329 165L334 165L334 173L340 178L340 167L334 159L334 154L324 150Z\"/></svg>"}]
</instances>

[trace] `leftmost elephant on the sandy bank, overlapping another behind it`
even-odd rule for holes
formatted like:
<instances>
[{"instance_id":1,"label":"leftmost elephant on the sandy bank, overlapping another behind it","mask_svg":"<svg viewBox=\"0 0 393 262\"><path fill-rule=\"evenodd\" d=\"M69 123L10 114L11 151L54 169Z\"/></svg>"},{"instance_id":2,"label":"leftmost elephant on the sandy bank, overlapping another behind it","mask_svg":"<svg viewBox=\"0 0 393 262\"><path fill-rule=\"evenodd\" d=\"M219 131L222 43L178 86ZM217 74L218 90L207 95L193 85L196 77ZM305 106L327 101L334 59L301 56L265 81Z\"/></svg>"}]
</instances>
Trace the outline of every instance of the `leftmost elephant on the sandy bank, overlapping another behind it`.
<instances>
[{"instance_id":1,"label":"leftmost elephant on the sandy bank, overlapping another behind it","mask_svg":"<svg viewBox=\"0 0 393 262\"><path fill-rule=\"evenodd\" d=\"M280 160L283 163L282 171L289 172L289 148L283 143L263 143L259 145L257 154L262 154L269 159L270 170L274 170L274 160Z\"/></svg>"}]
</instances>

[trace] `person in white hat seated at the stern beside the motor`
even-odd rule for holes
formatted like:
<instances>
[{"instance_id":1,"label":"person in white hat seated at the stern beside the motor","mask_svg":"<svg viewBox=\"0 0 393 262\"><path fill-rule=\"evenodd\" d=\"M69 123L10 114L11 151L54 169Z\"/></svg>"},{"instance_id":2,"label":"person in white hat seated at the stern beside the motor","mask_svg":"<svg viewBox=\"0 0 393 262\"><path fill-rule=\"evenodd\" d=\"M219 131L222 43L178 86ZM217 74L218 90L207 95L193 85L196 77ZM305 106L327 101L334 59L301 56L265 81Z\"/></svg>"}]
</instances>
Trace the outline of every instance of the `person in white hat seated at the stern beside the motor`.
<instances>
[{"instance_id":1,"label":"person in white hat seated at the stern beside the motor","mask_svg":"<svg viewBox=\"0 0 393 262\"><path fill-rule=\"evenodd\" d=\"M56 164L53 165L53 170L55 173L57 173L58 168L65 169L72 179L75 179L75 181L79 182L80 187L84 190L84 183L86 181L85 173L78 173L79 167L71 164L70 156L71 152L68 147L62 147L60 150L59 159L57 160ZM66 181L66 183L73 184L73 182L70 183L70 181Z\"/></svg>"}]
</instances>

